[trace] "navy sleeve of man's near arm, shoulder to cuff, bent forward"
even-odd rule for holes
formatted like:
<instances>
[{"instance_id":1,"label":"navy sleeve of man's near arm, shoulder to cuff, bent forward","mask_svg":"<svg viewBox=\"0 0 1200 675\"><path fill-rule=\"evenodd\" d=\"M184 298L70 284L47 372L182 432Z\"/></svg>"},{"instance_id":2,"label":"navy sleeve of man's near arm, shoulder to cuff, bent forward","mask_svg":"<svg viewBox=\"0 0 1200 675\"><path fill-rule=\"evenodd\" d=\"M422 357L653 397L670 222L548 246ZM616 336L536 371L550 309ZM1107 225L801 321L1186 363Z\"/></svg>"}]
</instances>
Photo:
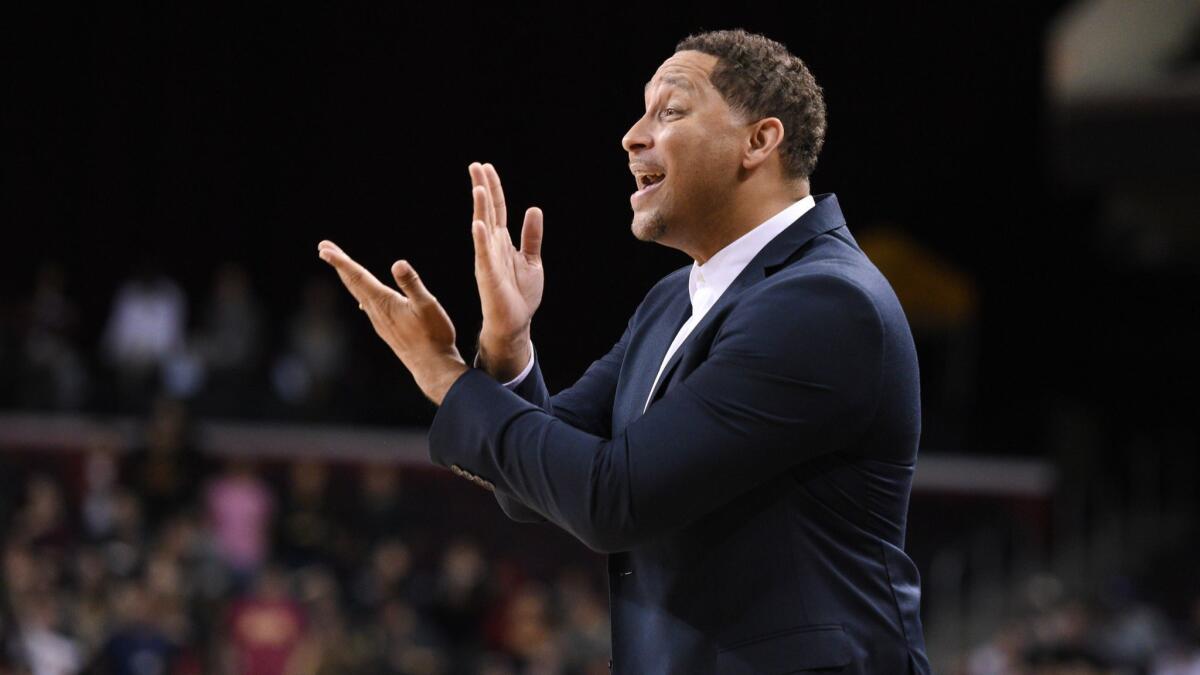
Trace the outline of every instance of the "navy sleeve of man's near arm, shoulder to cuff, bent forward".
<instances>
[{"instance_id":1,"label":"navy sleeve of man's near arm, shoulder to cuff, bent forward","mask_svg":"<svg viewBox=\"0 0 1200 675\"><path fill-rule=\"evenodd\" d=\"M839 276L763 283L730 311L708 358L614 437L556 418L472 370L434 417L431 458L476 472L612 552L845 448L875 414L880 315Z\"/></svg>"}]
</instances>

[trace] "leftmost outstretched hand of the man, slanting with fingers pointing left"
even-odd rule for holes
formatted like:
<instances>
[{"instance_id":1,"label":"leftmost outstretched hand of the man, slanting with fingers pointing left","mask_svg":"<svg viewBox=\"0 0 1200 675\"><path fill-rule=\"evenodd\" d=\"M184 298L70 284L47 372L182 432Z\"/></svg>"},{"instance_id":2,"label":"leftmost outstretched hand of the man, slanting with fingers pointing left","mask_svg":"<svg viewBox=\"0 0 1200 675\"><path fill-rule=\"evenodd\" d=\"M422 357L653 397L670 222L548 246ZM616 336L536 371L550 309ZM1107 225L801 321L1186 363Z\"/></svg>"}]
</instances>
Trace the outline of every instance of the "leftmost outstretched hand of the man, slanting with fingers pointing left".
<instances>
[{"instance_id":1,"label":"leftmost outstretched hand of the man, slanting with fingers pointing left","mask_svg":"<svg viewBox=\"0 0 1200 675\"><path fill-rule=\"evenodd\" d=\"M391 275L404 292L401 294L384 286L332 241L318 244L317 255L337 270L342 283L359 301L359 309L413 374L421 392L442 405L450 386L467 371L467 364L454 342L454 323L437 298L425 289L413 265L404 261L391 265Z\"/></svg>"}]
</instances>

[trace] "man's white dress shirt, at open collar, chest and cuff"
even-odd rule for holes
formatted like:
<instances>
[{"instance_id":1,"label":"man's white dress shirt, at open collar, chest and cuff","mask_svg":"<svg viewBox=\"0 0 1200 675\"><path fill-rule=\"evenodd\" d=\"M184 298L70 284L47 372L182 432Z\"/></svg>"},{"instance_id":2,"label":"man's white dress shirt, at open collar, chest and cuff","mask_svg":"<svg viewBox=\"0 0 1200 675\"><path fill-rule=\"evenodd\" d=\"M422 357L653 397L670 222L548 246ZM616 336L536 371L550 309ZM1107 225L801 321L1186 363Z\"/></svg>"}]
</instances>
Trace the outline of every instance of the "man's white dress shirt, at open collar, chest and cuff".
<instances>
[{"instance_id":1,"label":"man's white dress shirt, at open collar, chest and cuff","mask_svg":"<svg viewBox=\"0 0 1200 675\"><path fill-rule=\"evenodd\" d=\"M712 258L704 262L704 264L691 263L691 273L688 275L688 294L691 297L691 316L688 321L679 327L679 331L676 333L674 340L671 341L671 346L667 348L666 356L662 357L662 363L659 364L659 372L654 376L654 384L650 387L650 396L654 395L654 389L659 386L659 377L662 377L662 369L666 368L667 362L674 356L676 351L683 345L684 340L691 335L691 331L696 328L696 324L704 318L708 310L713 309L716 300L721 298L721 294L733 283L733 280L742 274L742 270L750 264L750 261L762 251L772 239L779 235L780 232L787 229L787 226L796 222L800 216L808 213L809 209L816 205L816 201L812 196L804 197L798 202L793 202L792 205L779 211L778 214L770 216L764 222L746 232L742 237L738 237L724 249L713 255ZM524 381L533 371L533 345L529 345L529 363L526 364L524 370L521 375L517 375L504 386L509 389L515 388L517 384ZM479 365L479 357L475 357L475 365ZM646 399L646 407L649 407L650 399Z\"/></svg>"}]
</instances>

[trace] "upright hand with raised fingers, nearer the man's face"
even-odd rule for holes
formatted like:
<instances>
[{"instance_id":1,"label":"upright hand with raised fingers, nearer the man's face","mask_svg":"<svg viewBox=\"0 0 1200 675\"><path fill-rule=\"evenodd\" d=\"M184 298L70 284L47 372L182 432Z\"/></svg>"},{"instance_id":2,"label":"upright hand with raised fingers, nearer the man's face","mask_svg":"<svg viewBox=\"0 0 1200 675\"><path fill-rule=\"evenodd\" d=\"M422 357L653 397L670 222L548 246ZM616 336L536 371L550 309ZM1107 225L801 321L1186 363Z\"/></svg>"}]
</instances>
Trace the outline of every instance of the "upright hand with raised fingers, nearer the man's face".
<instances>
[{"instance_id":1,"label":"upright hand with raised fingers, nearer the man's face","mask_svg":"<svg viewBox=\"0 0 1200 675\"><path fill-rule=\"evenodd\" d=\"M500 177L492 165L473 163L470 223L475 240L475 281L484 310L479 334L484 368L498 380L515 377L532 357L529 325L541 304L541 209L526 210L521 250L512 245Z\"/></svg>"}]
</instances>

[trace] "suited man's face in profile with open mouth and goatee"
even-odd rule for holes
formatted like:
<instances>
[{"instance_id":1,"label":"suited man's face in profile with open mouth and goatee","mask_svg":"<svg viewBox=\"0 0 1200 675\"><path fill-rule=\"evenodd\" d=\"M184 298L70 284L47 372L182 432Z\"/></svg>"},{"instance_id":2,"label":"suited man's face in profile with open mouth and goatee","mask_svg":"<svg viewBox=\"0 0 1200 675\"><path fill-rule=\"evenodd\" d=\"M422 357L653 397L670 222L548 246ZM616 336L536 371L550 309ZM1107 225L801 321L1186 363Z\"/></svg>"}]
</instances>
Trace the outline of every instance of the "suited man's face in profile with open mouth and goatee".
<instances>
[{"instance_id":1,"label":"suited man's face in profile with open mouth and goatee","mask_svg":"<svg viewBox=\"0 0 1200 675\"><path fill-rule=\"evenodd\" d=\"M622 138L643 241L686 249L737 185L745 127L708 79L716 64L702 52L664 61L646 85L646 114Z\"/></svg>"}]
</instances>

